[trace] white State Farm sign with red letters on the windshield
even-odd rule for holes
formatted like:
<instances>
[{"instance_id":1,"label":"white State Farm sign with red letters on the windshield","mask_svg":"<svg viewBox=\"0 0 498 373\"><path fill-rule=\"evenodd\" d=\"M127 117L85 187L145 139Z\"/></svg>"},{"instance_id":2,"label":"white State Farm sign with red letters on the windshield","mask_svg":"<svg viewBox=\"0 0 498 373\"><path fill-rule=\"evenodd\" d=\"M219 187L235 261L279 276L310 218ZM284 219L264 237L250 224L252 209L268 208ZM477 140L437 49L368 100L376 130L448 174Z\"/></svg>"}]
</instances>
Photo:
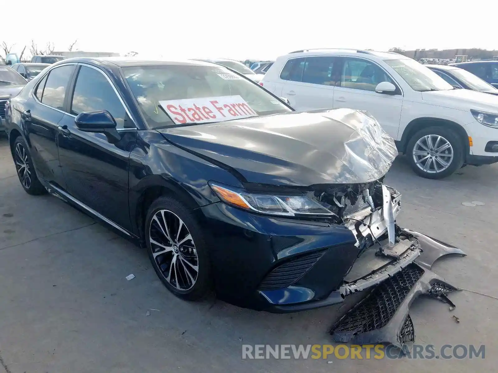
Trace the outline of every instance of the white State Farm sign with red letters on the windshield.
<instances>
[{"instance_id":1,"label":"white State Farm sign with red letters on the windshield","mask_svg":"<svg viewBox=\"0 0 498 373\"><path fill-rule=\"evenodd\" d=\"M159 101L176 124L210 123L257 116L240 95Z\"/></svg>"}]
</instances>

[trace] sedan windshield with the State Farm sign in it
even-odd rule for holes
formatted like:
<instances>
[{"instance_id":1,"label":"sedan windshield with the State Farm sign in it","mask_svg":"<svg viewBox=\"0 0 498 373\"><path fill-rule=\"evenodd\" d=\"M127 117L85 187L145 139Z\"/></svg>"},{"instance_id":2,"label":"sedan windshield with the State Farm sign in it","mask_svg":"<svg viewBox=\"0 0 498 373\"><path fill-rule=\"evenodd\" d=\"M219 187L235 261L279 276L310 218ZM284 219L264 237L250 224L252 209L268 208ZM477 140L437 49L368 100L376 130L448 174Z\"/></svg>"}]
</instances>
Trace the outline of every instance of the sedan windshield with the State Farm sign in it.
<instances>
[{"instance_id":1,"label":"sedan windshield with the State Farm sign in it","mask_svg":"<svg viewBox=\"0 0 498 373\"><path fill-rule=\"evenodd\" d=\"M257 84L221 66L134 66L122 70L151 129L292 111Z\"/></svg>"}]
</instances>

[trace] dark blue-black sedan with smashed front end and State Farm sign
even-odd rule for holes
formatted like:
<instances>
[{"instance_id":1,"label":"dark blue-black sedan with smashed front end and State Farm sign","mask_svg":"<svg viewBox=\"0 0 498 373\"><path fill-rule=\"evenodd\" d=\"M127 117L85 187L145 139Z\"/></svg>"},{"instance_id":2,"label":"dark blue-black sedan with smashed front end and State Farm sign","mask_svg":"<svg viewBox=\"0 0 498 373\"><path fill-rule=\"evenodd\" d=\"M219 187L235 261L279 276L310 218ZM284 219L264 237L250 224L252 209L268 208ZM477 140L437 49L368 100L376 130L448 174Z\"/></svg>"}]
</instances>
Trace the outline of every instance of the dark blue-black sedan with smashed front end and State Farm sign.
<instances>
[{"instance_id":1,"label":"dark blue-black sedan with smashed front end and State Farm sign","mask_svg":"<svg viewBox=\"0 0 498 373\"><path fill-rule=\"evenodd\" d=\"M220 65L67 59L10 99L6 122L24 190L145 247L183 299L214 287L297 311L463 254L395 224L401 196L382 180L397 152L375 119L295 112Z\"/></svg>"}]
</instances>

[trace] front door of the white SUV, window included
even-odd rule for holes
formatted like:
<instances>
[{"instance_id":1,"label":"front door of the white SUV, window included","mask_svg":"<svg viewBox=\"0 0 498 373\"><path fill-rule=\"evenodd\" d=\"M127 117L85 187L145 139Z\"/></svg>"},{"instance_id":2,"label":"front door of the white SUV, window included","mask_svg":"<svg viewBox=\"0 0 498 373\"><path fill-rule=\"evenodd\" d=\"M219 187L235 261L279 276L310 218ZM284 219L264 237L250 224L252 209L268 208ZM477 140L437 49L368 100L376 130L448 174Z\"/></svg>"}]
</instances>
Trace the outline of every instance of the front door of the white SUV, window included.
<instances>
[{"instance_id":1,"label":"front door of the white SUV, window included","mask_svg":"<svg viewBox=\"0 0 498 373\"><path fill-rule=\"evenodd\" d=\"M334 108L348 107L369 111L394 139L398 137L403 95L393 79L373 61L342 57L340 82L334 90ZM375 87L389 82L397 87L395 94L376 93Z\"/></svg>"}]
</instances>

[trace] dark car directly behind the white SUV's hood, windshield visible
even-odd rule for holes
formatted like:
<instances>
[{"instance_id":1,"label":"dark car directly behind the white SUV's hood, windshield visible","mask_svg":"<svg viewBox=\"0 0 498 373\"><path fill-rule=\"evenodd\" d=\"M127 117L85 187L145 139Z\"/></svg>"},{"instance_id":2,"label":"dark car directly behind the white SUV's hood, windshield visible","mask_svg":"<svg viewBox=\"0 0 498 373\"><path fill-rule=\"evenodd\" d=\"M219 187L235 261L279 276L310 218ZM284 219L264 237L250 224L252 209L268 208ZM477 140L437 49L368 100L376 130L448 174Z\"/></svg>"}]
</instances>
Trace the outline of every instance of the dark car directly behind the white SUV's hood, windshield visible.
<instances>
[{"instance_id":1,"label":"dark car directly behind the white SUV's hood, windshield visible","mask_svg":"<svg viewBox=\"0 0 498 373\"><path fill-rule=\"evenodd\" d=\"M455 88L498 95L498 90L477 75L456 66L425 65Z\"/></svg>"}]
</instances>

